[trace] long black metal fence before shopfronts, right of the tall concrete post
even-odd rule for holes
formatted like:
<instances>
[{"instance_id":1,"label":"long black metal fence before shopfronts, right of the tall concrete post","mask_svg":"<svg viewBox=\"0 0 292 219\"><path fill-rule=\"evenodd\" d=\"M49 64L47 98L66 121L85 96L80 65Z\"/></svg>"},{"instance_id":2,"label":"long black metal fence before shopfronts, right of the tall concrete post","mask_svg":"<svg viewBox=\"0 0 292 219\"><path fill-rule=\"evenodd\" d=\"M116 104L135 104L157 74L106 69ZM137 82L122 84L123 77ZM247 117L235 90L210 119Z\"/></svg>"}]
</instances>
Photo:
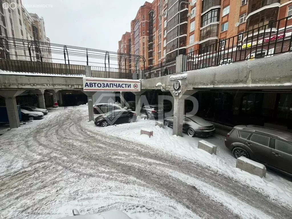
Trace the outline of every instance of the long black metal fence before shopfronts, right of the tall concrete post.
<instances>
[{"instance_id":1,"label":"long black metal fence before shopfronts, right of the tall concrete post","mask_svg":"<svg viewBox=\"0 0 292 219\"><path fill-rule=\"evenodd\" d=\"M187 53L183 71L254 60L292 51L292 15ZM290 20L291 19L291 20ZM186 59L186 60L185 60Z\"/></svg>"}]
</instances>

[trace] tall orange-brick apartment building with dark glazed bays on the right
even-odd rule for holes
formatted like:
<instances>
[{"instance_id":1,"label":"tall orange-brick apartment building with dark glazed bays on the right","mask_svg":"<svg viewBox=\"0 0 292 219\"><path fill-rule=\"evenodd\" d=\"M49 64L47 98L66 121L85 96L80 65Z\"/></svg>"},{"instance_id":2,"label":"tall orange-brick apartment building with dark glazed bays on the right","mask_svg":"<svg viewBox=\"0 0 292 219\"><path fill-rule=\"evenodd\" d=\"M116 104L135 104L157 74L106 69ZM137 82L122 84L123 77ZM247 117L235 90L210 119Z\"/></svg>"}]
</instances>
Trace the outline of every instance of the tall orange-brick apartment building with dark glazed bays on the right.
<instances>
[{"instance_id":1,"label":"tall orange-brick apartment building with dark glazed bays on the right","mask_svg":"<svg viewBox=\"0 0 292 219\"><path fill-rule=\"evenodd\" d=\"M219 41L223 48L248 41L249 36L241 33L261 26L261 30L269 29L272 35L284 26L292 27L292 19L286 23L283 20L279 26L274 22L292 15L291 0L186 0L191 4L182 1L145 2L131 21L131 33L122 36L123 44L131 47L127 53L145 57L145 68L175 58L178 47L179 54L193 51L203 54L210 52L210 45ZM224 39L233 36L237 37L225 45ZM121 41L118 51L125 53L120 44ZM135 63L127 67L134 70ZM142 64L138 68L142 69Z\"/></svg>"}]
</instances>

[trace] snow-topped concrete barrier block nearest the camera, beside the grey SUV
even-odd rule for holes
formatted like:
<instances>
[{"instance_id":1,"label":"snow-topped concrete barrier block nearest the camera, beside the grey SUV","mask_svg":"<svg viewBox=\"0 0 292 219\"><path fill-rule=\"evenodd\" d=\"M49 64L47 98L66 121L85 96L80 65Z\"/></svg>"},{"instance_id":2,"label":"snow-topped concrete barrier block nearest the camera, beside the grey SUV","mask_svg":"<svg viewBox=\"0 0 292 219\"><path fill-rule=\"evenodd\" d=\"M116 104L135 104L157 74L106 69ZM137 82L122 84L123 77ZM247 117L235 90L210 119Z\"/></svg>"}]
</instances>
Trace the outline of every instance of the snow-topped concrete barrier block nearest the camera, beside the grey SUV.
<instances>
[{"instance_id":1,"label":"snow-topped concrete barrier block nearest the camera, beside the grey SUV","mask_svg":"<svg viewBox=\"0 0 292 219\"><path fill-rule=\"evenodd\" d=\"M246 157L239 157L236 160L236 168L239 168L243 171L257 175L260 178L266 177L266 167L263 164L260 164L256 161L252 161Z\"/></svg>"}]
</instances>

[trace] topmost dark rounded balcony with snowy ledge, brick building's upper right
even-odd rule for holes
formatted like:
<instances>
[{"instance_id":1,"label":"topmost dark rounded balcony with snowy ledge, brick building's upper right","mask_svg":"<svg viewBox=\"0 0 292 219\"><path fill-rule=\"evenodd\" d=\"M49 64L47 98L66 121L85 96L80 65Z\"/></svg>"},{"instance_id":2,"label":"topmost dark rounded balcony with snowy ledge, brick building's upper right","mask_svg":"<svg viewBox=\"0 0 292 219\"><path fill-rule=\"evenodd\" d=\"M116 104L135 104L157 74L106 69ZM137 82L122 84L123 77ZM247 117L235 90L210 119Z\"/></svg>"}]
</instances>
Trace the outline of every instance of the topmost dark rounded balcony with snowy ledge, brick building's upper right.
<instances>
[{"instance_id":1,"label":"topmost dark rounded balcony with snowy ledge, brick building's upper right","mask_svg":"<svg viewBox=\"0 0 292 219\"><path fill-rule=\"evenodd\" d=\"M255 15L261 11L266 11L270 8L278 9L280 5L280 0L252 0L250 3L248 3L246 20L252 15Z\"/></svg>"}]
</instances>

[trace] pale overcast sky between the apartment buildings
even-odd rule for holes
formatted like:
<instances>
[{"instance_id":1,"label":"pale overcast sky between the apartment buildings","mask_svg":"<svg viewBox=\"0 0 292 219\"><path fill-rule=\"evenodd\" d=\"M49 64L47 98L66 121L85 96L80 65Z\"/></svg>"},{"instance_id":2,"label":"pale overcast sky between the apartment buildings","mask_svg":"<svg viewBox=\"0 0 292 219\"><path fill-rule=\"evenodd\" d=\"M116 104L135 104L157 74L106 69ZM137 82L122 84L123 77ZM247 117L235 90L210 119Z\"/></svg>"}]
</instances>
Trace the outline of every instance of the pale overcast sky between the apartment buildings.
<instances>
[{"instance_id":1,"label":"pale overcast sky between the apartment buildings","mask_svg":"<svg viewBox=\"0 0 292 219\"><path fill-rule=\"evenodd\" d=\"M144 3L145 0L22 0L23 5L52 6L26 7L29 13L44 17L51 43L114 52L122 34L130 32L131 20Z\"/></svg>"}]
</instances>

